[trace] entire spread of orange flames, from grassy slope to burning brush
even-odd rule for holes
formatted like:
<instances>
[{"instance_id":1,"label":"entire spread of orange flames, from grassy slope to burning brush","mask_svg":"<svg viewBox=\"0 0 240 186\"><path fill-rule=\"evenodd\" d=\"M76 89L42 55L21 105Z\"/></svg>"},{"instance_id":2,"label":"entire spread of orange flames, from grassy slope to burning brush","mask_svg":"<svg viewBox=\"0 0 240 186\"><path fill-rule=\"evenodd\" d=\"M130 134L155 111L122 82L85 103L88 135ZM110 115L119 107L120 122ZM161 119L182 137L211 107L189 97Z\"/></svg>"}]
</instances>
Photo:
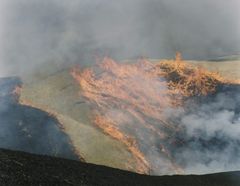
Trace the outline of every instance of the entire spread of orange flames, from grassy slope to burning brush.
<instances>
[{"instance_id":1,"label":"entire spread of orange flames, from grassy slope to burning brush","mask_svg":"<svg viewBox=\"0 0 240 186\"><path fill-rule=\"evenodd\" d=\"M104 58L97 68L73 68L71 74L96 113L94 123L127 146L138 160L140 173L155 166L147 152L150 147L169 159L171 170L181 172L168 149L169 139L180 129L165 119L163 110L183 105L189 97L212 94L227 82L218 73L185 63L180 53L175 60L159 63Z\"/></svg>"}]
</instances>

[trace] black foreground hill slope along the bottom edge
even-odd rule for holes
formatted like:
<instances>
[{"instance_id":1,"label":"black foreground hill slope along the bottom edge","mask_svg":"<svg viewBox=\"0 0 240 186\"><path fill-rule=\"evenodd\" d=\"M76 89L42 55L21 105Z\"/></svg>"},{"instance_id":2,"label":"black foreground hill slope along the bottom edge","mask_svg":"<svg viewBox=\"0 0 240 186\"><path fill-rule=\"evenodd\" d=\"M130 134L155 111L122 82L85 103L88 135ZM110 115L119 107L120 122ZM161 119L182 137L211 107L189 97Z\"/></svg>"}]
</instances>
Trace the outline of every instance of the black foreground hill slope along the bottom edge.
<instances>
[{"instance_id":1,"label":"black foreground hill slope along the bottom edge","mask_svg":"<svg viewBox=\"0 0 240 186\"><path fill-rule=\"evenodd\" d=\"M145 176L74 160L0 149L1 186L239 186L240 172Z\"/></svg>"}]
</instances>

